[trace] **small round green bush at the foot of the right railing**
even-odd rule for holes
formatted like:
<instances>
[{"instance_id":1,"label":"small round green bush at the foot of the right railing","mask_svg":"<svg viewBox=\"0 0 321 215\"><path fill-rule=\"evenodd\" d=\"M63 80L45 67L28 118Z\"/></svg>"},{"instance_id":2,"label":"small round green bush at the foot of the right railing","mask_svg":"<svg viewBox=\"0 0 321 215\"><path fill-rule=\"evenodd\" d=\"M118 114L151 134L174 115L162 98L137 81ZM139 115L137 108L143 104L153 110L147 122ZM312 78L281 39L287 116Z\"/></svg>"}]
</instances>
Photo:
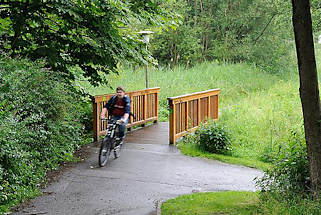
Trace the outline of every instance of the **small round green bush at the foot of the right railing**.
<instances>
[{"instance_id":1,"label":"small round green bush at the foot of the right railing","mask_svg":"<svg viewBox=\"0 0 321 215\"><path fill-rule=\"evenodd\" d=\"M230 150L230 134L226 128L215 121L202 124L195 132L201 150L225 154Z\"/></svg>"}]
</instances>

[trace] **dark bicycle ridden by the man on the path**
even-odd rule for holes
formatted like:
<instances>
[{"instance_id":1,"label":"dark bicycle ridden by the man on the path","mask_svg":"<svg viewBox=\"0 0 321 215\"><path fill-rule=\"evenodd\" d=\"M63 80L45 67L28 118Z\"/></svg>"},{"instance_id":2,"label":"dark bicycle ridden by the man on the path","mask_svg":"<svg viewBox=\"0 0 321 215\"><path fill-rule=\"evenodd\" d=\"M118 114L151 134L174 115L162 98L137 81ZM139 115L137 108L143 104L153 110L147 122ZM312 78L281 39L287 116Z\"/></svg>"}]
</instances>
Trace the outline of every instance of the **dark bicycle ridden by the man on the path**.
<instances>
[{"instance_id":1,"label":"dark bicycle ridden by the man on the path","mask_svg":"<svg viewBox=\"0 0 321 215\"><path fill-rule=\"evenodd\" d=\"M119 126L121 123L118 120L108 120L107 118L102 120L107 120L108 124L106 136L104 137L99 150L98 163L100 167L103 167L108 163L112 150L114 150L114 157L116 159L120 156L122 148L122 141L119 139Z\"/></svg>"}]
</instances>

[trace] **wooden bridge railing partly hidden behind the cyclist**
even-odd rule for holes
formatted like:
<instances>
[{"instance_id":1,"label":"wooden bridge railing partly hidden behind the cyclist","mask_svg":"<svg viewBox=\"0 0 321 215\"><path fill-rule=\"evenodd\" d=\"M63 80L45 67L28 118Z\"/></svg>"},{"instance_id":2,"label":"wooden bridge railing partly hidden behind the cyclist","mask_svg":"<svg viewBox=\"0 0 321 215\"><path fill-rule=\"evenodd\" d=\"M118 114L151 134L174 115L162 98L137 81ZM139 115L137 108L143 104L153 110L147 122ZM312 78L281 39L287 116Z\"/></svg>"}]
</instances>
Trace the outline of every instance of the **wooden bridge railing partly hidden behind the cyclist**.
<instances>
[{"instance_id":1,"label":"wooden bridge railing partly hidden behind the cyclist","mask_svg":"<svg viewBox=\"0 0 321 215\"><path fill-rule=\"evenodd\" d=\"M126 92L131 100L131 112L135 118L130 117L127 128L135 125L145 126L147 122L158 120L158 94L159 87ZM99 136L106 134L107 122L100 120L100 113L107 101L115 94L105 94L93 97L94 115L94 141L99 140Z\"/></svg>"}]
</instances>

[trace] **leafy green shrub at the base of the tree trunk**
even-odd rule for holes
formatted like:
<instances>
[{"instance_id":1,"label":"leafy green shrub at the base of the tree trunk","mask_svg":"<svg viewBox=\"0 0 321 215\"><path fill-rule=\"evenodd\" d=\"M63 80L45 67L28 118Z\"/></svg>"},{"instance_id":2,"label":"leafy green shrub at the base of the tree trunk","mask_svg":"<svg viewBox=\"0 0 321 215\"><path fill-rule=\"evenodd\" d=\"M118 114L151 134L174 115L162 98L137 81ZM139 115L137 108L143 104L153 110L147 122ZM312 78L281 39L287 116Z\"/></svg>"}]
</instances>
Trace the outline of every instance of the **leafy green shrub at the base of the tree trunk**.
<instances>
[{"instance_id":1,"label":"leafy green shrub at the base of the tree trunk","mask_svg":"<svg viewBox=\"0 0 321 215\"><path fill-rule=\"evenodd\" d=\"M311 188L309 165L303 131L293 132L280 148L273 168L257 181L263 192L279 195L304 194Z\"/></svg>"}]
</instances>

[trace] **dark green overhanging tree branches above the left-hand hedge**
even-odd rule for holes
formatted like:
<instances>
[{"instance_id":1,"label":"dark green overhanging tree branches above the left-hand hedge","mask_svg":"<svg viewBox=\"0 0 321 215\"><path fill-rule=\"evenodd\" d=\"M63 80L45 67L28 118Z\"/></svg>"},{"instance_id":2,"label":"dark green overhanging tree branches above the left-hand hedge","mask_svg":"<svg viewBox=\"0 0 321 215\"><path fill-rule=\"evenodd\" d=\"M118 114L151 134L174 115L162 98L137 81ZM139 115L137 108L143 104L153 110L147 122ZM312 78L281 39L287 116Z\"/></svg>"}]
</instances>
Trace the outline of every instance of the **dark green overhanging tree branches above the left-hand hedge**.
<instances>
[{"instance_id":1,"label":"dark green overhanging tree branches above the left-hand hedge","mask_svg":"<svg viewBox=\"0 0 321 215\"><path fill-rule=\"evenodd\" d=\"M102 73L117 72L119 63L142 62L146 52L128 26L145 20L165 24L166 14L152 0L5 1L0 4L0 49L73 80L69 67L80 66L92 84Z\"/></svg>"}]
</instances>

